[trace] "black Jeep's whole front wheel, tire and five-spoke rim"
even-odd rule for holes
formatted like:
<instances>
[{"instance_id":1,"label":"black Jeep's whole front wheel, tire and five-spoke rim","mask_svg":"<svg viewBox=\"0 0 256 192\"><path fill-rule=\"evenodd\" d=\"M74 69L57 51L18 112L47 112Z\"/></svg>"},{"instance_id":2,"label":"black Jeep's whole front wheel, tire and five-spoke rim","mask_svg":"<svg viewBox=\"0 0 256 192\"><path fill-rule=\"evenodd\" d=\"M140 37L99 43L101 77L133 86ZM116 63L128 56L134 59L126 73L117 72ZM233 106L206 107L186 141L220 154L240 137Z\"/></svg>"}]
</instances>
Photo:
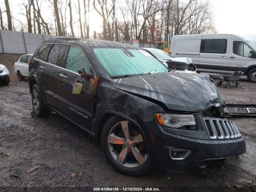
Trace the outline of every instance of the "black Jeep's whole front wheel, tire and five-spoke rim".
<instances>
[{"instance_id":1,"label":"black Jeep's whole front wheel, tire and five-spoke rim","mask_svg":"<svg viewBox=\"0 0 256 192\"><path fill-rule=\"evenodd\" d=\"M151 170L151 163L139 128L113 116L105 124L101 147L112 167L126 175L140 176Z\"/></svg>"}]
</instances>

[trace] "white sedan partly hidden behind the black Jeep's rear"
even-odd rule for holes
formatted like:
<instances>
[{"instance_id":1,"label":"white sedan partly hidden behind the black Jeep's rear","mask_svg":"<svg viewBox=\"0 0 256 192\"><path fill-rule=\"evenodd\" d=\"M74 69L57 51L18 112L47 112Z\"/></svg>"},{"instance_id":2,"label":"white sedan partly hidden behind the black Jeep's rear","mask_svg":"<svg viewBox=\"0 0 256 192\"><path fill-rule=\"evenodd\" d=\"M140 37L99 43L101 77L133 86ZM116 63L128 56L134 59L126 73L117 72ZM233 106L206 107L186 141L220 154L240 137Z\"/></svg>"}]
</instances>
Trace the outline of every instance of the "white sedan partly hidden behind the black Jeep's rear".
<instances>
[{"instance_id":1,"label":"white sedan partly hidden behind the black Jeep's rear","mask_svg":"<svg viewBox=\"0 0 256 192\"><path fill-rule=\"evenodd\" d=\"M23 81L25 77L28 77L28 62L31 58L32 54L22 55L20 59L14 63L14 72L17 74L20 81Z\"/></svg>"}]
</instances>

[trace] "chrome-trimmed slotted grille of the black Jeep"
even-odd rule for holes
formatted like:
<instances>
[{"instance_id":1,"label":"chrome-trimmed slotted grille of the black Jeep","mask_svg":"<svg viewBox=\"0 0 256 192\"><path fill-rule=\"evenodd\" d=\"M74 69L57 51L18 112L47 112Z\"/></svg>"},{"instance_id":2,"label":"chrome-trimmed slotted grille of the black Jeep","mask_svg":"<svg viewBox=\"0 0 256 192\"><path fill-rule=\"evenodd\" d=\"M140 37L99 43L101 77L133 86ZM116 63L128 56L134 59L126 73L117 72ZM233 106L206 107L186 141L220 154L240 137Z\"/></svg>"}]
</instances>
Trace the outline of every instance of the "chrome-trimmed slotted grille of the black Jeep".
<instances>
[{"instance_id":1,"label":"chrome-trimmed slotted grille of the black Jeep","mask_svg":"<svg viewBox=\"0 0 256 192\"><path fill-rule=\"evenodd\" d=\"M204 119L211 139L229 139L241 137L234 122L219 119Z\"/></svg>"}]
</instances>

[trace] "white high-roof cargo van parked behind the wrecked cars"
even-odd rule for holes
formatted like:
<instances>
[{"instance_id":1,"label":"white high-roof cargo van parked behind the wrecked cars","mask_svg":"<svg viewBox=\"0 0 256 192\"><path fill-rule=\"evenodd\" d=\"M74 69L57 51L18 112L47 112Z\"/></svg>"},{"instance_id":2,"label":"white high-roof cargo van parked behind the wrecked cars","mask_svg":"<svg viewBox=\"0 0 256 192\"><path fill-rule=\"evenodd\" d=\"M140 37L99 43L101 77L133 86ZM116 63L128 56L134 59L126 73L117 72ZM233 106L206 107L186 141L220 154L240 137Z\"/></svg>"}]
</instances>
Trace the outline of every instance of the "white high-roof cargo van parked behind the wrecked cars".
<instances>
[{"instance_id":1,"label":"white high-roof cargo van parked behind the wrecked cars","mask_svg":"<svg viewBox=\"0 0 256 192\"><path fill-rule=\"evenodd\" d=\"M249 38L233 34L174 35L170 52L175 57L192 58L198 72L241 70L250 82L256 82L256 43Z\"/></svg>"}]
</instances>

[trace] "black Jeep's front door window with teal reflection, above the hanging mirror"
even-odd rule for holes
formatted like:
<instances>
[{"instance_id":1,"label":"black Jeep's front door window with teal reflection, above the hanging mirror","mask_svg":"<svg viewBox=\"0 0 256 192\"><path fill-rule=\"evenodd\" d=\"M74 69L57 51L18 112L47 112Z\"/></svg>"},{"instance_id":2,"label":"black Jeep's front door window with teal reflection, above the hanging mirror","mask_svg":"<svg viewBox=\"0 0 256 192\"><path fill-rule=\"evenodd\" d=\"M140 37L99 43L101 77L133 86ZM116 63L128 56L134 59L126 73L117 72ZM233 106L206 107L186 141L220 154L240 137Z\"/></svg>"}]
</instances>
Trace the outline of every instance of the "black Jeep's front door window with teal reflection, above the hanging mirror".
<instances>
[{"instance_id":1,"label":"black Jeep's front door window with teal reflection, above the hanging mirror","mask_svg":"<svg viewBox=\"0 0 256 192\"><path fill-rule=\"evenodd\" d=\"M83 50L76 46L70 46L68 50L66 69L78 72L78 70L82 68L84 68L86 73L92 74L90 63Z\"/></svg>"}]
</instances>

